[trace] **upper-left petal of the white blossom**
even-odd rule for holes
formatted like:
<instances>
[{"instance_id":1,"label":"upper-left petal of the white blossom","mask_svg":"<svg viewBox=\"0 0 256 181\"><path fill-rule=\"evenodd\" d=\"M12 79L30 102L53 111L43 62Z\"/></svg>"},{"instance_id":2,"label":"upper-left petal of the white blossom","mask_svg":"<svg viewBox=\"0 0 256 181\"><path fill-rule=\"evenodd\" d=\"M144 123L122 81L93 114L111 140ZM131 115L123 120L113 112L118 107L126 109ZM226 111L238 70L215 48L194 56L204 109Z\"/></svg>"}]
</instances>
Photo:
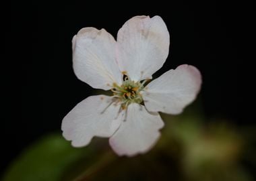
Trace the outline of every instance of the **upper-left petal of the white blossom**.
<instances>
[{"instance_id":1,"label":"upper-left petal of the white blossom","mask_svg":"<svg viewBox=\"0 0 256 181\"><path fill-rule=\"evenodd\" d=\"M113 82L121 84L117 65L117 42L105 29L85 27L72 40L73 68L80 80L93 88L110 89Z\"/></svg>"}]
</instances>

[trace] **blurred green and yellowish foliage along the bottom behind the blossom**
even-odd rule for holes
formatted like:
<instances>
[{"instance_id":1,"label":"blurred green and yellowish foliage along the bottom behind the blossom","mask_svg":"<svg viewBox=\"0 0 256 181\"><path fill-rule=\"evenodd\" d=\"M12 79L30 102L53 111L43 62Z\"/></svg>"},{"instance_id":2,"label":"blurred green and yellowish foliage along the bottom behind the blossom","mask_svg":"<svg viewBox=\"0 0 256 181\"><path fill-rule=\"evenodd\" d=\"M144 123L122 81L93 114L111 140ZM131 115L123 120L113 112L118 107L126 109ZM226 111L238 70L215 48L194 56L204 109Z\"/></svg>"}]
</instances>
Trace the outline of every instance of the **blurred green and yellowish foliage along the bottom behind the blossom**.
<instances>
[{"instance_id":1,"label":"blurred green and yellowish foliage along the bottom behind the blossom","mask_svg":"<svg viewBox=\"0 0 256 181\"><path fill-rule=\"evenodd\" d=\"M54 133L24 150L3 181L253 180L243 159L255 158L250 145L255 127L242 133L226 121L205 123L201 111L191 106L182 115L162 114L162 118L166 123L162 137L148 154L118 157L102 138L73 148L60 133Z\"/></svg>"}]
</instances>

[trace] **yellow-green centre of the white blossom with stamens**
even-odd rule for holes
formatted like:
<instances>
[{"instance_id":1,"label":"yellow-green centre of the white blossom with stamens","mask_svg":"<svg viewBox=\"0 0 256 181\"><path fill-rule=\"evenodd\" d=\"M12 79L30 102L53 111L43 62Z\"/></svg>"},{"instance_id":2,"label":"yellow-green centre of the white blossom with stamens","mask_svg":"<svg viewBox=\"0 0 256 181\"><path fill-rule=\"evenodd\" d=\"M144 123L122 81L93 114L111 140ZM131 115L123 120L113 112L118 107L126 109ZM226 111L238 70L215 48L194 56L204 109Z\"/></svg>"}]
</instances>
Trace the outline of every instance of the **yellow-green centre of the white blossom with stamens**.
<instances>
[{"instance_id":1,"label":"yellow-green centre of the white blossom with stamens","mask_svg":"<svg viewBox=\"0 0 256 181\"><path fill-rule=\"evenodd\" d=\"M131 103L140 104L143 101L139 92L143 90L143 85L146 81L147 80L143 80L143 82L135 82L130 80L128 76L125 76L121 86L116 83L113 84L111 91L113 92L114 97L117 97L119 101L121 101L122 109L126 109Z\"/></svg>"}]
</instances>

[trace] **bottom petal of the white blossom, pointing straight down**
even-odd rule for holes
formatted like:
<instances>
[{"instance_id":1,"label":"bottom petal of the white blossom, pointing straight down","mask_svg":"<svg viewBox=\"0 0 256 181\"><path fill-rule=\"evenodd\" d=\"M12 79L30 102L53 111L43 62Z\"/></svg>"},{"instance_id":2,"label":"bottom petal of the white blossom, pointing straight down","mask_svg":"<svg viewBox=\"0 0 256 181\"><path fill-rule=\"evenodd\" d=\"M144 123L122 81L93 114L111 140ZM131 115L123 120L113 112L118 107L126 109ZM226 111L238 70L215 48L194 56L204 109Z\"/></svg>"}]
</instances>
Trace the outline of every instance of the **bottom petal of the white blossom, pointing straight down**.
<instances>
[{"instance_id":1,"label":"bottom petal of the white blossom, pointing straight down","mask_svg":"<svg viewBox=\"0 0 256 181\"><path fill-rule=\"evenodd\" d=\"M147 152L160 136L158 129L164 126L160 115L148 113L143 105L133 103L127 109L127 118L109 139L119 156Z\"/></svg>"}]
</instances>

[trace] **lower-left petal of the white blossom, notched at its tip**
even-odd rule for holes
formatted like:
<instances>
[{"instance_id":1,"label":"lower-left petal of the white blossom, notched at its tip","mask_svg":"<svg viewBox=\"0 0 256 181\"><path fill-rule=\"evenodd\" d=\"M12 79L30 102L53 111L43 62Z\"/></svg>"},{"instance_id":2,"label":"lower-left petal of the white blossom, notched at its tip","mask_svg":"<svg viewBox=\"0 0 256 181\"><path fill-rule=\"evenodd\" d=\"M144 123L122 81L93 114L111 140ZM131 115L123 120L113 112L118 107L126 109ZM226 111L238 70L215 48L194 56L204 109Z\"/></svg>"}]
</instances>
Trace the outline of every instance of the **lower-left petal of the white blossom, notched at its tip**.
<instances>
[{"instance_id":1,"label":"lower-left petal of the white blossom, notched at its tip","mask_svg":"<svg viewBox=\"0 0 256 181\"><path fill-rule=\"evenodd\" d=\"M112 103L112 104L111 104ZM110 137L121 123L119 107L104 95L91 96L77 104L63 119L63 136L74 147L88 145L92 137Z\"/></svg>"}]
</instances>

